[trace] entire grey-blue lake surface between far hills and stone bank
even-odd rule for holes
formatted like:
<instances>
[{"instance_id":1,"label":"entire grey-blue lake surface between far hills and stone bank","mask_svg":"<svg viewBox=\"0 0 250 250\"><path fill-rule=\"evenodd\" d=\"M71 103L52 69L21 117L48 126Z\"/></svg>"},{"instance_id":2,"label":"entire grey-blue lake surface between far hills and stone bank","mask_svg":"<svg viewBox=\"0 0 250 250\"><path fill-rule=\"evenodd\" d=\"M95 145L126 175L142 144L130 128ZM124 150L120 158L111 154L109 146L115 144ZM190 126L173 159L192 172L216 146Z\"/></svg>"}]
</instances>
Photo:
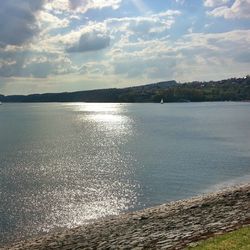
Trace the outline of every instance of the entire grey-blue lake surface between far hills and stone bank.
<instances>
[{"instance_id":1,"label":"entire grey-blue lake surface between far hills and stone bank","mask_svg":"<svg viewBox=\"0 0 250 250\"><path fill-rule=\"evenodd\" d=\"M3 104L0 244L249 181L250 104Z\"/></svg>"}]
</instances>

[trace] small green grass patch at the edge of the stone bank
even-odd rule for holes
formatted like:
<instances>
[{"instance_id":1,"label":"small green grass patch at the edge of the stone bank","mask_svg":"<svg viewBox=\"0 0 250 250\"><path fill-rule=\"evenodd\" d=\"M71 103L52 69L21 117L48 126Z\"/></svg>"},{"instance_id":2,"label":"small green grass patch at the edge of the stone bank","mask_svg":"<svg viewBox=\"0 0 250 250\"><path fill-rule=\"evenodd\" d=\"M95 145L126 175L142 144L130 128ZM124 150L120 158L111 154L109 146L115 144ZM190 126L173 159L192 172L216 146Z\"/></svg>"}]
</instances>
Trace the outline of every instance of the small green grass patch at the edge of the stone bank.
<instances>
[{"instance_id":1,"label":"small green grass patch at the edge of the stone bank","mask_svg":"<svg viewBox=\"0 0 250 250\"><path fill-rule=\"evenodd\" d=\"M250 250L250 226L198 242L192 250Z\"/></svg>"}]
</instances>

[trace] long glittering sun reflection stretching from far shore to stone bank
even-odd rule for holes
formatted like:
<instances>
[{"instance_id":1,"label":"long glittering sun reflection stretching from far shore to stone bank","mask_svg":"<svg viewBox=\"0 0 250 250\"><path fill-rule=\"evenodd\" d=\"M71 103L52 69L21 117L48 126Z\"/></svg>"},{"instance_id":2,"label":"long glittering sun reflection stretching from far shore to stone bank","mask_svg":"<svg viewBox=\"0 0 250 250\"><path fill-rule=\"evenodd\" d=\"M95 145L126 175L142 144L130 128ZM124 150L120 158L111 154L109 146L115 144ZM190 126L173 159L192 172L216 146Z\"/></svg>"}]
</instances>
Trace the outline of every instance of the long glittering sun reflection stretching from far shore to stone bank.
<instances>
[{"instance_id":1,"label":"long glittering sun reflection stretching from far shore to stone bank","mask_svg":"<svg viewBox=\"0 0 250 250\"><path fill-rule=\"evenodd\" d=\"M43 232L117 215L133 208L138 198L138 184L133 180L133 156L126 151L126 143L133 133L133 118L128 116L127 104L63 106L70 121L73 120L67 128L75 136L67 143L58 143L63 145L60 156L58 152L51 152L53 160L43 164L40 171L36 168L37 179L43 178L52 185L37 198L31 197L37 200L33 203L36 209L46 211L46 220L35 227ZM28 171L33 168L26 173ZM27 197L21 201L26 202L25 207L33 201ZM48 202L43 203L44 200Z\"/></svg>"}]
</instances>

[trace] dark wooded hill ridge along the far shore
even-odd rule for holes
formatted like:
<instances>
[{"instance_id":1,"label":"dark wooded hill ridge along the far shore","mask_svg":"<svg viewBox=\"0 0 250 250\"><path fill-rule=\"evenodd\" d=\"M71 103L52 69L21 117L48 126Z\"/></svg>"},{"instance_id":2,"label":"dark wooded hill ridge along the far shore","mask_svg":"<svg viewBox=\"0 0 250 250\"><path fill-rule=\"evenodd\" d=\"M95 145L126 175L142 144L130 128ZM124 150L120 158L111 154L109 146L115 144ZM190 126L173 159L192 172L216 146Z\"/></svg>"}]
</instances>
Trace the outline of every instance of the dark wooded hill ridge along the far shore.
<instances>
[{"instance_id":1,"label":"dark wooded hill ridge along the far shore","mask_svg":"<svg viewBox=\"0 0 250 250\"><path fill-rule=\"evenodd\" d=\"M122 89L0 95L1 102L203 102L250 100L250 76L221 81L159 82Z\"/></svg>"}]
</instances>

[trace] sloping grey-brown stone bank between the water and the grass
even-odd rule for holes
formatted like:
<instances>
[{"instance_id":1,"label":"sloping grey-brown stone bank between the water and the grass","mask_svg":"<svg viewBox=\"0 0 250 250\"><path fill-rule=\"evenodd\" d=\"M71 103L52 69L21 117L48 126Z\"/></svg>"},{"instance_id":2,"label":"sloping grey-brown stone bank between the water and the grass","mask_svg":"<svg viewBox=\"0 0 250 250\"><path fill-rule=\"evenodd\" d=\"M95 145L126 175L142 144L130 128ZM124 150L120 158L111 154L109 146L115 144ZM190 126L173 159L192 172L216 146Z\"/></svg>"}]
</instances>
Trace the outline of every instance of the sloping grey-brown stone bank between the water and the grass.
<instances>
[{"instance_id":1,"label":"sloping grey-brown stone bank between the water and the grass","mask_svg":"<svg viewBox=\"0 0 250 250\"><path fill-rule=\"evenodd\" d=\"M15 243L17 249L183 249L250 224L250 184Z\"/></svg>"}]
</instances>

